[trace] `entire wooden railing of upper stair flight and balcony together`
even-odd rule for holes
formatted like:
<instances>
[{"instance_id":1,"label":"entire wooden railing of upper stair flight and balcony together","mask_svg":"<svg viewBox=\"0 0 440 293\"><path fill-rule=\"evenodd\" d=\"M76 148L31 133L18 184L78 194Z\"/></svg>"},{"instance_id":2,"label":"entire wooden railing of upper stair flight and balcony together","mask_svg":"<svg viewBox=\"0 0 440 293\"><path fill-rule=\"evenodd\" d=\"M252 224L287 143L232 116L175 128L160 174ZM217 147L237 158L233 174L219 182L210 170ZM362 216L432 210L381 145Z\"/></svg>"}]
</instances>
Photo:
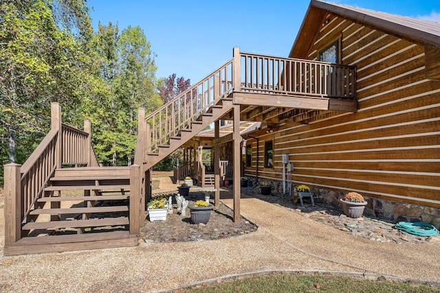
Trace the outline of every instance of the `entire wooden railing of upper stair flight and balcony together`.
<instances>
[{"instance_id":1,"label":"entire wooden railing of upper stair flight and balcony together","mask_svg":"<svg viewBox=\"0 0 440 293\"><path fill-rule=\"evenodd\" d=\"M157 152L170 137L236 92L355 99L355 67L328 62L240 53L146 117L146 152Z\"/></svg>"}]
</instances>

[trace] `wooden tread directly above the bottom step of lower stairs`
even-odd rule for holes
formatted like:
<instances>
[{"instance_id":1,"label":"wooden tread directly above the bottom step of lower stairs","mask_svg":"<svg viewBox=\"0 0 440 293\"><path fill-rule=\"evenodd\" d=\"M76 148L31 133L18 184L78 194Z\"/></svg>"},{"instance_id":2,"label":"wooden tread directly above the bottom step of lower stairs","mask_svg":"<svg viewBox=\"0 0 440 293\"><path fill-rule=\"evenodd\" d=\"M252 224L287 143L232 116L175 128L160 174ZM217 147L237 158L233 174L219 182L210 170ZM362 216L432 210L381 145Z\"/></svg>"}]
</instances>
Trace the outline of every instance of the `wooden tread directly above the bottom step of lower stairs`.
<instances>
[{"instance_id":1,"label":"wooden tread directly above the bottom step of lower stairs","mask_svg":"<svg viewBox=\"0 0 440 293\"><path fill-rule=\"evenodd\" d=\"M30 222L23 225L23 230L56 229L56 228L86 228L100 226L125 226L129 224L129 218L104 218L91 220L66 220L52 222Z\"/></svg>"}]
</instances>

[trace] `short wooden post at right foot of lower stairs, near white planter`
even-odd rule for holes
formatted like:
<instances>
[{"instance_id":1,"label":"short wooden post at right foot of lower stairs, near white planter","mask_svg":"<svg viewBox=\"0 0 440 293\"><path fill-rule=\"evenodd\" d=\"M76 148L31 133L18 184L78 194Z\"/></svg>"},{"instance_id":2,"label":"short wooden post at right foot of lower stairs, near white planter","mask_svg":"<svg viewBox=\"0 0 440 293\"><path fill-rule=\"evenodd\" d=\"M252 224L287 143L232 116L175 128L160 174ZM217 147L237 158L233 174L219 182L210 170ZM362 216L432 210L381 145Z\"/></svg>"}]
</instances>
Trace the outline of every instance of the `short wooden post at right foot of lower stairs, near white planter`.
<instances>
[{"instance_id":1,"label":"short wooden post at right foot of lower stairs, near white planter","mask_svg":"<svg viewBox=\"0 0 440 293\"><path fill-rule=\"evenodd\" d=\"M140 231L140 165L130 166L130 234Z\"/></svg>"}]
</instances>

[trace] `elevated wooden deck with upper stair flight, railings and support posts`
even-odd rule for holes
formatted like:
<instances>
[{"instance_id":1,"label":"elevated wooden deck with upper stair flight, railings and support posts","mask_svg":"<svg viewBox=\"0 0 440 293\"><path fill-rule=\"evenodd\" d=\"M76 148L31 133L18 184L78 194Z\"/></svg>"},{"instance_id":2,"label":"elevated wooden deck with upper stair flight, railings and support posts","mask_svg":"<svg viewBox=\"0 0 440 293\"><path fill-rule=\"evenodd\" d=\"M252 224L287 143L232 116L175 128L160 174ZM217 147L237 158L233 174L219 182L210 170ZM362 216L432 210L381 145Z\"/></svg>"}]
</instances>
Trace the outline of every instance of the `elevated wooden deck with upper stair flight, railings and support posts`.
<instances>
[{"instance_id":1,"label":"elevated wooden deck with upper stair flight, railings and support posts","mask_svg":"<svg viewBox=\"0 0 440 293\"><path fill-rule=\"evenodd\" d=\"M220 164L225 160L219 157L218 148L228 141L233 141L232 180L239 182L241 121L261 122L260 128L264 129L354 113L358 109L355 81L355 67L241 53L239 47L234 47L231 60L144 118L147 133L144 172L147 174L153 165L177 148L184 148L199 132L214 124L211 138L215 149L214 187L219 190ZM220 135L220 120L232 121L232 132ZM190 160L195 159L194 153ZM197 173L194 176L204 182L203 165L194 169ZM234 185L233 192L236 220L239 219L239 185ZM215 204L218 202L219 191L215 194Z\"/></svg>"}]
</instances>

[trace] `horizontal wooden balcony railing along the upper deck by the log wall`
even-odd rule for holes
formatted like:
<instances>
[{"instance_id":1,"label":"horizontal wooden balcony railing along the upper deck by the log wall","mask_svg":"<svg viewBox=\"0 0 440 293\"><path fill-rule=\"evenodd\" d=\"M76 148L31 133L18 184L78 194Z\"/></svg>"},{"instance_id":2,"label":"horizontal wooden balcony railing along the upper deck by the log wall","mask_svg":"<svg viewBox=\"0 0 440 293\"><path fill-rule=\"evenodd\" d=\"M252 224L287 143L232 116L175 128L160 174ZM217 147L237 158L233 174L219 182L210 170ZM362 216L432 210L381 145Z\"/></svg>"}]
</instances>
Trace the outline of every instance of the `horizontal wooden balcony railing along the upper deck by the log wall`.
<instances>
[{"instance_id":1,"label":"horizontal wooden balcony railing along the upper deck by the log wall","mask_svg":"<svg viewBox=\"0 0 440 293\"><path fill-rule=\"evenodd\" d=\"M353 99L355 67L241 53L241 91Z\"/></svg>"}]
</instances>

